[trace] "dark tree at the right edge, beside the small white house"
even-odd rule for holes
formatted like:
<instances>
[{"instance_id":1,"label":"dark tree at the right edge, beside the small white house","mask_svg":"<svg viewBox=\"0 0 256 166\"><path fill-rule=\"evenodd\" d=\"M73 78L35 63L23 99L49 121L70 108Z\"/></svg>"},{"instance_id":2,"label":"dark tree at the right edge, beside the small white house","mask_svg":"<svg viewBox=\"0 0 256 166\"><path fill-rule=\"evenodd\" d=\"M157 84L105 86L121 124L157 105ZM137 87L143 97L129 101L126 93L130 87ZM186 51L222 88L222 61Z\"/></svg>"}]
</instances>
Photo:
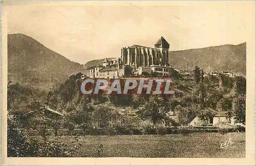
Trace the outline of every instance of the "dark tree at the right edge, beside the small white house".
<instances>
[{"instance_id":1,"label":"dark tree at the right edge, beside the small white house","mask_svg":"<svg viewBox=\"0 0 256 166\"><path fill-rule=\"evenodd\" d=\"M237 123L245 124L245 111L246 111L246 96L244 94L237 94L232 103L233 113L236 116L235 120Z\"/></svg>"}]
</instances>

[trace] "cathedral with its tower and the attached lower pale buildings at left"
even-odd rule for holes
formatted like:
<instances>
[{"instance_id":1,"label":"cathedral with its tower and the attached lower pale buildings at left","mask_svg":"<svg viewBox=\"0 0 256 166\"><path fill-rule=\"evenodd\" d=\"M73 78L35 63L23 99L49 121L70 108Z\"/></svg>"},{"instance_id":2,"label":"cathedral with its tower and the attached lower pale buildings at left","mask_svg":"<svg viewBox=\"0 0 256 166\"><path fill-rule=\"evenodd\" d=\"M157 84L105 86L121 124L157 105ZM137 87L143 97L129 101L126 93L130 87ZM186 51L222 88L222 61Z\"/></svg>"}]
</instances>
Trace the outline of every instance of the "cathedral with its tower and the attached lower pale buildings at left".
<instances>
[{"instance_id":1,"label":"cathedral with its tower and the attached lower pale buildings at left","mask_svg":"<svg viewBox=\"0 0 256 166\"><path fill-rule=\"evenodd\" d=\"M88 68L90 78L119 78L124 75L155 73L157 76L170 76L172 66L169 60L169 43L161 37L155 48L132 45L121 49L121 59L104 59L102 65ZM129 71L126 72L125 71Z\"/></svg>"}]
</instances>

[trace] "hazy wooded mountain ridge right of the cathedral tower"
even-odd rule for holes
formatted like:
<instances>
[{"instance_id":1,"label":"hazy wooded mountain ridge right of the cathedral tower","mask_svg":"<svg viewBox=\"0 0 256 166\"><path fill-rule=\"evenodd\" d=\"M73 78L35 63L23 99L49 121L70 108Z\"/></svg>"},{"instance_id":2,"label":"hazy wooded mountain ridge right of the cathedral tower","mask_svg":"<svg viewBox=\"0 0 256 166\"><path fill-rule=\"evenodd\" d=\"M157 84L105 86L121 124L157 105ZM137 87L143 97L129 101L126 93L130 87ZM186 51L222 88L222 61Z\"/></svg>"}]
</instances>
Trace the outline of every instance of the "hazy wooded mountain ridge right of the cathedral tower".
<instances>
[{"instance_id":1,"label":"hazy wooded mountain ridge right of the cathedral tower","mask_svg":"<svg viewBox=\"0 0 256 166\"><path fill-rule=\"evenodd\" d=\"M246 75L246 43L210 46L202 49L170 51L169 63L177 68L229 70Z\"/></svg>"}]
</instances>

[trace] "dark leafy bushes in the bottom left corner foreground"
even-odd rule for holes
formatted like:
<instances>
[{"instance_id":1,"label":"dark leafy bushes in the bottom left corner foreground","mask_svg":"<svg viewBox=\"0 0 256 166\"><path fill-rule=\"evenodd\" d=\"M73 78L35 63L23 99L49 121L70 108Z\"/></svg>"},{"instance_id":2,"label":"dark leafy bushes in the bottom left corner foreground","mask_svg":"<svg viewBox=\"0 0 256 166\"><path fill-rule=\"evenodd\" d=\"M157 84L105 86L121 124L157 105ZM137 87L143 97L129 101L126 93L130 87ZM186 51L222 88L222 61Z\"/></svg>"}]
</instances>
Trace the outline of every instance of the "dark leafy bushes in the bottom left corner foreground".
<instances>
[{"instance_id":1,"label":"dark leafy bushes in the bottom left corner foreground","mask_svg":"<svg viewBox=\"0 0 256 166\"><path fill-rule=\"evenodd\" d=\"M74 153L81 147L78 137L75 137L72 148L60 143L59 140L42 140L40 136L28 137L24 130L8 129L7 156L8 157L74 157Z\"/></svg>"}]
</instances>

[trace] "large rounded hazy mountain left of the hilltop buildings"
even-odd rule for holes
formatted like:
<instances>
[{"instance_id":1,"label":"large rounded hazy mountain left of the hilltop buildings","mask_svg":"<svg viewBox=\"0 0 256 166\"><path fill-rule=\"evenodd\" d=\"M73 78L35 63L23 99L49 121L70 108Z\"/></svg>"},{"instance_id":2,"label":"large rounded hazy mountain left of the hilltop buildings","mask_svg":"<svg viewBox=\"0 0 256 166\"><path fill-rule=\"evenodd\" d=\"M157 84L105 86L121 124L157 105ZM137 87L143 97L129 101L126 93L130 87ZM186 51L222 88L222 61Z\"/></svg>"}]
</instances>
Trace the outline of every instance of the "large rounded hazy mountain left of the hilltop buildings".
<instances>
[{"instance_id":1,"label":"large rounded hazy mountain left of the hilltop buildings","mask_svg":"<svg viewBox=\"0 0 256 166\"><path fill-rule=\"evenodd\" d=\"M8 35L8 80L49 89L68 76L86 72L83 65L70 61L24 34Z\"/></svg>"}]
</instances>

